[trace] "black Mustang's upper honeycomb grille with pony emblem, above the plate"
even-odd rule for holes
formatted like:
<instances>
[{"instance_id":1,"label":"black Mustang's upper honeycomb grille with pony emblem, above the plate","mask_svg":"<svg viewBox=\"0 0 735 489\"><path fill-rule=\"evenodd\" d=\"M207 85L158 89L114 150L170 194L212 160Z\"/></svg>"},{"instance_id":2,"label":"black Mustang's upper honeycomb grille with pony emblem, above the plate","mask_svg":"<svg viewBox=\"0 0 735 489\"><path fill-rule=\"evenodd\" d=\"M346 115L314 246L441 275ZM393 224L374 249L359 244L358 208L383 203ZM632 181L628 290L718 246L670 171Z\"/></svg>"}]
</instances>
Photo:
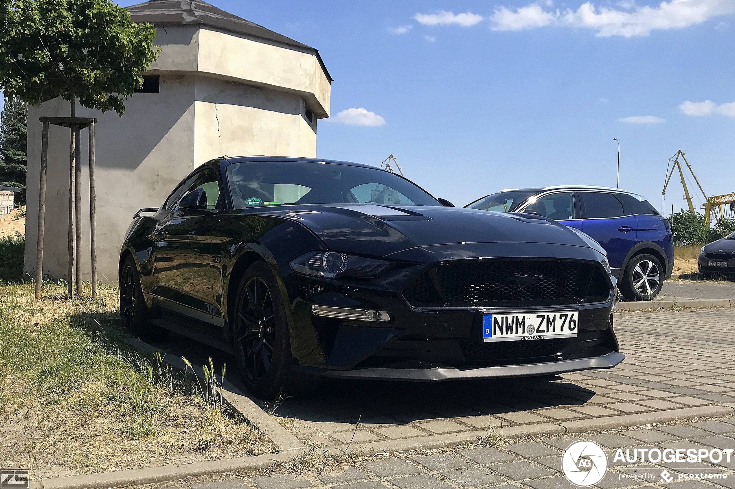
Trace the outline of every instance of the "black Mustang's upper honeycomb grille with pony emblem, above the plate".
<instances>
[{"instance_id":1,"label":"black Mustang's upper honeycomb grille with pony emblem, above the plate","mask_svg":"<svg viewBox=\"0 0 735 489\"><path fill-rule=\"evenodd\" d=\"M598 264L537 259L451 261L419 275L403 292L415 307L572 305L607 300Z\"/></svg>"}]
</instances>

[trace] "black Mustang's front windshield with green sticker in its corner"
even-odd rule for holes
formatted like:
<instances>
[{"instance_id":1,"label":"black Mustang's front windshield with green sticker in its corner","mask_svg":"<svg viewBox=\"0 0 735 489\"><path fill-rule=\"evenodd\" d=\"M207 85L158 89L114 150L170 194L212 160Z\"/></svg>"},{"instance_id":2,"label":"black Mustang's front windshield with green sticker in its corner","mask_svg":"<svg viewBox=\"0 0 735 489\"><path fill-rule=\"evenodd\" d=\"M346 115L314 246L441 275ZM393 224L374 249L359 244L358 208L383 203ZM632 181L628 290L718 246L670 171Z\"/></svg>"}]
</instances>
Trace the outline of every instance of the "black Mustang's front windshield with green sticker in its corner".
<instances>
[{"instance_id":1,"label":"black Mustang's front windshield with green sticker in its corner","mask_svg":"<svg viewBox=\"0 0 735 489\"><path fill-rule=\"evenodd\" d=\"M281 204L441 206L405 178L377 168L314 162L242 162L227 167L235 209Z\"/></svg>"}]
</instances>

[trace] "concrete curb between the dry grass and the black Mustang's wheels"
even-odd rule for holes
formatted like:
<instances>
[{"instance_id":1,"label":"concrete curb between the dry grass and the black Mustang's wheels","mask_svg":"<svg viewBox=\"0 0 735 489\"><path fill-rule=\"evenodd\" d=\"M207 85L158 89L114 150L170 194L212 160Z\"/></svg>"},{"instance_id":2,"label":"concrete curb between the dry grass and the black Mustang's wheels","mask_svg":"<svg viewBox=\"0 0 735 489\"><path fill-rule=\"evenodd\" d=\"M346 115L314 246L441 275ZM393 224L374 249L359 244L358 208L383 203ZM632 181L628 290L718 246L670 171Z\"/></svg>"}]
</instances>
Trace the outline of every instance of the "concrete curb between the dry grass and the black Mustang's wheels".
<instances>
[{"instance_id":1,"label":"concrete curb between the dry grass and the black Mustang's wheels","mask_svg":"<svg viewBox=\"0 0 735 489\"><path fill-rule=\"evenodd\" d=\"M151 354L155 354L160 351L159 348L144 343L137 338L125 338L123 341L136 349L140 349ZM169 365L181 370L182 372L187 371L187 366L181 358L176 355L171 355L170 353L161 352L161 355L163 361ZM201 367L194 366L194 373L197 377L204 379L204 371ZM268 413L262 410L259 405L253 402L253 399L248 397L247 394L232 385L229 380L223 379L217 374L215 374L215 377L217 377L217 380L221 385L219 391L225 402L232 409L243 415L248 424L251 424L258 431L268 436L270 441L275 443L282 452L301 449L304 447L304 444L301 443L298 438L282 427L278 421L269 416Z\"/></svg>"}]
</instances>

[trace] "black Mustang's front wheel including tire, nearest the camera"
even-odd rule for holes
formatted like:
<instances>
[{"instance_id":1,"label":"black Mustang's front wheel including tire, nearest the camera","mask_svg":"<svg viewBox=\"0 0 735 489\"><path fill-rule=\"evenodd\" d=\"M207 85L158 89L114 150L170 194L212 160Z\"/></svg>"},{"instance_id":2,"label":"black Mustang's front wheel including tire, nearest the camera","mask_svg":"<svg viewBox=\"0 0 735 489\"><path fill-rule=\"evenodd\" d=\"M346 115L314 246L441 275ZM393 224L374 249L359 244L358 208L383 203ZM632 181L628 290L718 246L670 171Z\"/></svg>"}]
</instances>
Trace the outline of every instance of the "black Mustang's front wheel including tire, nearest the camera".
<instances>
[{"instance_id":1,"label":"black Mustang's front wheel including tire, nearest the camera","mask_svg":"<svg viewBox=\"0 0 735 489\"><path fill-rule=\"evenodd\" d=\"M245 270L232 318L237 369L245 387L261 399L310 391L317 380L291 371L295 364L284 300L267 264Z\"/></svg>"}]
</instances>

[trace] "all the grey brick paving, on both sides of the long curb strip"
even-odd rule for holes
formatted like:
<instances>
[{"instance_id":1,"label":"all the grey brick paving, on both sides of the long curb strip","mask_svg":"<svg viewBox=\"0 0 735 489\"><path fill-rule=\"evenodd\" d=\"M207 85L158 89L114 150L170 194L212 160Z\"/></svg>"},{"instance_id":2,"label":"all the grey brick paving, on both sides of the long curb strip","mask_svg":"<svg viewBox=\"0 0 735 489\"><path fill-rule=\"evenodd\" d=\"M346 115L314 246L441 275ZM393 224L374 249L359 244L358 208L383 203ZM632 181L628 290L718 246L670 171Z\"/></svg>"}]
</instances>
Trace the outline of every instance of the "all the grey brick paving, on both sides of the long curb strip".
<instances>
[{"instance_id":1,"label":"all the grey brick paving, on both sides of the long curb strip","mask_svg":"<svg viewBox=\"0 0 735 489\"><path fill-rule=\"evenodd\" d=\"M718 419L638 427L638 413L702 405L735 408L735 309L623 312L615 330L627 359L616 369L445 384L334 382L276 411L293 419L304 441L334 445L416 441L487 426L569 424L633 414L630 424L584 435L536 435L503 446L371 457L334 474L193 477L150 488L182 489L567 489L561 457L584 438L605 449L600 489L735 489L735 456L702 463L614 461L617 448L735 449L735 413ZM355 423L360 419L359 428ZM672 479L662 479L667 471ZM728 474L686 479L683 474Z\"/></svg>"}]
</instances>

